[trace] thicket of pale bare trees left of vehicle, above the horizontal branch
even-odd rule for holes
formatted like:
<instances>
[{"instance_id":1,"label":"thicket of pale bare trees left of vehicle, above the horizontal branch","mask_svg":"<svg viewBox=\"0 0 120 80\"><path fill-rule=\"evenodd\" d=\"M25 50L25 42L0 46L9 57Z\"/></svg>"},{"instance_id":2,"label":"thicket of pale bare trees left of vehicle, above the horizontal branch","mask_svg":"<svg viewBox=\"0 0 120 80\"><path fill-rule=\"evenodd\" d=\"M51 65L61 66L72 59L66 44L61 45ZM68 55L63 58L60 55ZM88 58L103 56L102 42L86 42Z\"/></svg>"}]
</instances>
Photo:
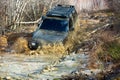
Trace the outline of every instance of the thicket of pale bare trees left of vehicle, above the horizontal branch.
<instances>
[{"instance_id":1,"label":"thicket of pale bare trees left of vehicle, above the horizontal branch","mask_svg":"<svg viewBox=\"0 0 120 80\"><path fill-rule=\"evenodd\" d=\"M0 4L1 25L12 30L17 28L18 22L37 20L44 8L42 0L1 0Z\"/></svg>"}]
</instances>

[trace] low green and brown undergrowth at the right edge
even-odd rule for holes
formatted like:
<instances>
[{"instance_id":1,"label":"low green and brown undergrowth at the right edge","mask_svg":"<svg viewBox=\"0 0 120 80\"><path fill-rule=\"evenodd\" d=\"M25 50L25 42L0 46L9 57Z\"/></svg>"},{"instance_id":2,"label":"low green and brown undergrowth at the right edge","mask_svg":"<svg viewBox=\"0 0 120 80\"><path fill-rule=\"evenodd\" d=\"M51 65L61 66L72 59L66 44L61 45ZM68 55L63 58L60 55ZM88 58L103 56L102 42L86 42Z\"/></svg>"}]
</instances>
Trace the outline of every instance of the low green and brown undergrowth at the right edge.
<instances>
[{"instance_id":1,"label":"low green and brown undergrowth at the right edge","mask_svg":"<svg viewBox=\"0 0 120 80\"><path fill-rule=\"evenodd\" d=\"M96 50L96 53L100 60L103 60L105 62L118 62L120 60L120 43L118 41L103 43Z\"/></svg>"}]
</instances>

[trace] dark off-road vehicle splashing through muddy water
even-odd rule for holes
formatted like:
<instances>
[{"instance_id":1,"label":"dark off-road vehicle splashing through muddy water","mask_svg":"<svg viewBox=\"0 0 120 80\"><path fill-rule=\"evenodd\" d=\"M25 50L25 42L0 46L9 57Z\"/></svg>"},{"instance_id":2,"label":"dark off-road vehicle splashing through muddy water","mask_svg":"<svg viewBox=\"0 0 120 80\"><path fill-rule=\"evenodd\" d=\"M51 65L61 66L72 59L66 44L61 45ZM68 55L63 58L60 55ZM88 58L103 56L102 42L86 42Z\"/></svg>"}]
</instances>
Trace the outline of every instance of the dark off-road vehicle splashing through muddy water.
<instances>
[{"instance_id":1,"label":"dark off-road vehicle splashing through muddy water","mask_svg":"<svg viewBox=\"0 0 120 80\"><path fill-rule=\"evenodd\" d=\"M63 42L69 31L73 31L77 12L72 5L57 5L42 16L38 28L33 32L28 47L35 50L48 43Z\"/></svg>"}]
</instances>

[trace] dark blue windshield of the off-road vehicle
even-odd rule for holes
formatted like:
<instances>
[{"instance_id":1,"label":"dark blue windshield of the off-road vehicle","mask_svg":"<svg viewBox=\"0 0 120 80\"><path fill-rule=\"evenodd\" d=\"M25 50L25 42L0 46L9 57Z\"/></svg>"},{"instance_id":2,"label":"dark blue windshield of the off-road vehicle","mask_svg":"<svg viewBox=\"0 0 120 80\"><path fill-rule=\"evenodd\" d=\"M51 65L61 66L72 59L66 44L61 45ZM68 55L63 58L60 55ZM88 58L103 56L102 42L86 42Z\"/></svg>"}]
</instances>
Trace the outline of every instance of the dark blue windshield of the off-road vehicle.
<instances>
[{"instance_id":1,"label":"dark blue windshield of the off-road vehicle","mask_svg":"<svg viewBox=\"0 0 120 80\"><path fill-rule=\"evenodd\" d=\"M68 20L45 19L40 29L66 32L68 31Z\"/></svg>"}]
</instances>

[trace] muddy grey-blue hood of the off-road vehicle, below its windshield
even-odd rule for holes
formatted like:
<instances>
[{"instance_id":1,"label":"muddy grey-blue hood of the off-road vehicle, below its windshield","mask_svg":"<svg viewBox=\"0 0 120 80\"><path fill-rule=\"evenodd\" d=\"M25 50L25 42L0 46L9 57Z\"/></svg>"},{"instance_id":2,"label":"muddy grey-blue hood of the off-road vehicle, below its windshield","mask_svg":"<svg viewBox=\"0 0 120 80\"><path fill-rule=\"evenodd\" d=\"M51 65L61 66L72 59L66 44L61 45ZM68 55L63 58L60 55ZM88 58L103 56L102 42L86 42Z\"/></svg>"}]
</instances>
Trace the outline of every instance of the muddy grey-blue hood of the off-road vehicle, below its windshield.
<instances>
[{"instance_id":1,"label":"muddy grey-blue hood of the off-road vehicle, below its windshield","mask_svg":"<svg viewBox=\"0 0 120 80\"><path fill-rule=\"evenodd\" d=\"M50 30L37 30L33 34L33 40L41 44L62 42L68 35L68 32L57 32Z\"/></svg>"}]
</instances>

